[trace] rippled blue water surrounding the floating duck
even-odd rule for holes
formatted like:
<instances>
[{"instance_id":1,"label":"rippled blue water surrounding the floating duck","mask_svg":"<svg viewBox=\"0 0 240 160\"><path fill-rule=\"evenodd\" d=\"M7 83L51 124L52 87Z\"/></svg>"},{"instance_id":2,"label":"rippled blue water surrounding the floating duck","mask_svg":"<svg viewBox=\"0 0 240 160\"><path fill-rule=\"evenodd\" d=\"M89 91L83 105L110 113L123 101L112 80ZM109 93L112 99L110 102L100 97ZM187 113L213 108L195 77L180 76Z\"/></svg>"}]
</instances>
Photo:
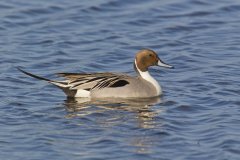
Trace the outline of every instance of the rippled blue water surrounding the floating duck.
<instances>
[{"instance_id":1,"label":"rippled blue water surrounding the floating duck","mask_svg":"<svg viewBox=\"0 0 240 160\"><path fill-rule=\"evenodd\" d=\"M0 159L240 159L240 1L0 2ZM134 74L157 51L164 95L67 99L18 72Z\"/></svg>"}]
</instances>

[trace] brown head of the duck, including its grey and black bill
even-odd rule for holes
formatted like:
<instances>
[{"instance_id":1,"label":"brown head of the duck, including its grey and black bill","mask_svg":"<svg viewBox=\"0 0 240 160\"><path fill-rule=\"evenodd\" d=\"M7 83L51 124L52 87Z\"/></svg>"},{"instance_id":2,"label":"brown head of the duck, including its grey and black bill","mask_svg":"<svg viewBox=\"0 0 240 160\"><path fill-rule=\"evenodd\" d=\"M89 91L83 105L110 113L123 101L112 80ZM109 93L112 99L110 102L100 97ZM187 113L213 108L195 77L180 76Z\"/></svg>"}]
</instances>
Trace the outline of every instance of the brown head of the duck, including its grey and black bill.
<instances>
[{"instance_id":1,"label":"brown head of the duck, including its grey and black bill","mask_svg":"<svg viewBox=\"0 0 240 160\"><path fill-rule=\"evenodd\" d=\"M140 71L145 72L150 66L173 68L173 66L164 63L153 50L143 49L139 51L136 54L135 67L137 67Z\"/></svg>"}]
</instances>

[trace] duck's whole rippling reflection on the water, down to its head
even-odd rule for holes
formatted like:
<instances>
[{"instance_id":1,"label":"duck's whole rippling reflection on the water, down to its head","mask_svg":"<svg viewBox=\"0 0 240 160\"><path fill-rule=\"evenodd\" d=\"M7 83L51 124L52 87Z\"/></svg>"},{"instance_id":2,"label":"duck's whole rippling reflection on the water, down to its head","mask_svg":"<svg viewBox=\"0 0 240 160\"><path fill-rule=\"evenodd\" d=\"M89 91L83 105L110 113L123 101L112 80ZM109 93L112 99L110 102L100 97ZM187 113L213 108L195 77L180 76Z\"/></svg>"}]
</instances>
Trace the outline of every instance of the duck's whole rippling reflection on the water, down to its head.
<instances>
[{"instance_id":1,"label":"duck's whole rippling reflection on the water, down to its head","mask_svg":"<svg viewBox=\"0 0 240 160\"><path fill-rule=\"evenodd\" d=\"M162 112L157 105L160 97L141 99L89 99L68 98L65 106L69 112L66 118L80 118L80 126L112 130L111 134L131 137L123 142L134 148L133 152L151 154L152 145L162 135L152 136L144 132L149 129L158 130L162 124L156 118ZM87 120L87 121L86 121ZM125 129L122 127L124 126ZM122 132L122 130L132 130ZM105 137L104 137L105 138ZM103 138L103 139L104 139Z\"/></svg>"}]
</instances>

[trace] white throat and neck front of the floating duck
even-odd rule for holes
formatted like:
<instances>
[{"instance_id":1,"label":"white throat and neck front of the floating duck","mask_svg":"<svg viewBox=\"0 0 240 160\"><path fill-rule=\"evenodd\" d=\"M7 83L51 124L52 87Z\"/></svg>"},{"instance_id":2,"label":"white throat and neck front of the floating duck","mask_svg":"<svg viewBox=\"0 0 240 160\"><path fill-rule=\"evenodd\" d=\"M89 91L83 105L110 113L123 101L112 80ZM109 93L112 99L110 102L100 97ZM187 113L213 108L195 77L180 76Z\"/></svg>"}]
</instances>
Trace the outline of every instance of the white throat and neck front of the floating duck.
<instances>
[{"instance_id":1,"label":"white throat and neck front of the floating duck","mask_svg":"<svg viewBox=\"0 0 240 160\"><path fill-rule=\"evenodd\" d=\"M162 90L161 90L161 87L160 85L158 84L158 82L150 75L150 73L148 71L145 71L145 72L142 72L138 66L137 66L137 63L136 63L136 60L135 60L135 66L136 66L136 69L138 71L138 73L140 74L140 76L145 79L146 81L150 82L154 87L155 89L157 90L157 95L160 95Z\"/></svg>"}]
</instances>

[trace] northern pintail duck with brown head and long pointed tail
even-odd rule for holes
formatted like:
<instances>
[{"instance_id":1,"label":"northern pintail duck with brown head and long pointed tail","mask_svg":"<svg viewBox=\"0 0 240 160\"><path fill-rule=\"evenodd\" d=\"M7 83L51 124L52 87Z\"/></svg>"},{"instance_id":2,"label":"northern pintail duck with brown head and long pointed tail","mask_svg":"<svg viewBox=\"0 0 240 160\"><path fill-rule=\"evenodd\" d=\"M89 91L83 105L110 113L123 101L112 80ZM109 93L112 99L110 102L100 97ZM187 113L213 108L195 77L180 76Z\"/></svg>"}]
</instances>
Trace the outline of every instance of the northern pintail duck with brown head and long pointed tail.
<instances>
[{"instance_id":1,"label":"northern pintail duck with brown head and long pointed tail","mask_svg":"<svg viewBox=\"0 0 240 160\"><path fill-rule=\"evenodd\" d=\"M50 80L18 68L31 77L45 80L61 88L68 97L89 98L148 98L162 94L158 82L149 74L150 66L173 68L164 63L156 52L143 49L136 54L134 68L137 76L119 73L57 73L64 81Z\"/></svg>"}]
</instances>

